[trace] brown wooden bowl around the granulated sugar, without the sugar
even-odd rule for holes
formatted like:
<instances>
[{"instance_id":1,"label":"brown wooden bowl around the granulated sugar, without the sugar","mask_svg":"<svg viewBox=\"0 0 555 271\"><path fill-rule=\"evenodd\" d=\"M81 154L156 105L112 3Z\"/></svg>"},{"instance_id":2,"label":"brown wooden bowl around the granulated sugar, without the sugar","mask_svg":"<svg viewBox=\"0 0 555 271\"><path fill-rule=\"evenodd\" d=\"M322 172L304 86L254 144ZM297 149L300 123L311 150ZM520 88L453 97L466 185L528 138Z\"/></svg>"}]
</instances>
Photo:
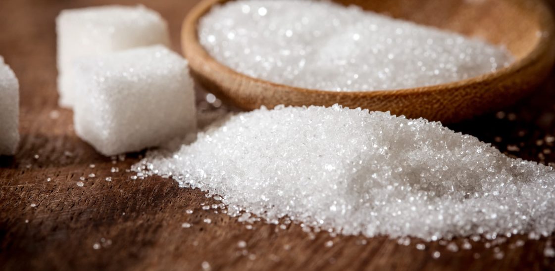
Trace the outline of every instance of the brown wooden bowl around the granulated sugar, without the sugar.
<instances>
[{"instance_id":1,"label":"brown wooden bowl around the granulated sugar, without the sugar","mask_svg":"<svg viewBox=\"0 0 555 271\"><path fill-rule=\"evenodd\" d=\"M280 104L330 106L337 103L349 108L455 122L500 109L522 98L548 76L555 60L553 16L541 0L338 0L503 44L516 61L495 73L412 89L335 92L296 88L238 73L206 52L198 40L199 19L212 6L228 1L201 1L185 18L181 39L197 83L245 110L261 105L273 108Z\"/></svg>"}]
</instances>

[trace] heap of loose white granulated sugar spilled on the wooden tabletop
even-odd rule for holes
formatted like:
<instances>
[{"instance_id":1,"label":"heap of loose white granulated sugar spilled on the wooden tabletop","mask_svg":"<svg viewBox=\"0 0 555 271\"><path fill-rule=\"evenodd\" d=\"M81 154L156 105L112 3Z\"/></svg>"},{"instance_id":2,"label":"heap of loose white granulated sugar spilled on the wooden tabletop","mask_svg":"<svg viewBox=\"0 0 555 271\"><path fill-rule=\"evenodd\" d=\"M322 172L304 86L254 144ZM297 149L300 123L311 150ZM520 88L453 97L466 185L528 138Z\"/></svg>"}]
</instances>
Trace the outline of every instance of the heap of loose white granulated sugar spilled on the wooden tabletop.
<instances>
[{"instance_id":1,"label":"heap of loose white granulated sugar spilled on the wooden tabletop","mask_svg":"<svg viewBox=\"0 0 555 271\"><path fill-rule=\"evenodd\" d=\"M241 113L133 168L218 195L243 220L432 241L555 229L551 167L438 122L339 105Z\"/></svg>"}]
</instances>

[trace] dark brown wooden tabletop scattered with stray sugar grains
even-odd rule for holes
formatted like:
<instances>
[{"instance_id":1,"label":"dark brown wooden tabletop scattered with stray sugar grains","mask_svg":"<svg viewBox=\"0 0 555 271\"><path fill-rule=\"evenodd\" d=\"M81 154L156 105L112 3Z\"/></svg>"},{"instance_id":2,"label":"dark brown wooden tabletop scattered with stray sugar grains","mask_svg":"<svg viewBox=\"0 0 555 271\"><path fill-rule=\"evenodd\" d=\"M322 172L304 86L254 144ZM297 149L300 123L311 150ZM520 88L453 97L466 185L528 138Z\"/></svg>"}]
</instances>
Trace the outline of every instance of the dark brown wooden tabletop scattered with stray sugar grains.
<instances>
[{"instance_id":1,"label":"dark brown wooden tabletop scattered with stray sugar grains","mask_svg":"<svg viewBox=\"0 0 555 271\"><path fill-rule=\"evenodd\" d=\"M320 233L311 238L299 226L284 230L255 224L248 229L235 218L201 209L205 202L215 203L204 193L162 178L131 180L125 169L140 154L113 165L75 136L71 111L57 107L54 18L60 9L112 2L135 3L0 1L0 55L21 84L22 134L18 154L0 158L0 269L196 270L203 262L213 270L555 268L555 258L543 256L551 238L515 246L527 240L516 236L495 244L498 239L490 248L491 242L471 242L472 249L456 253L445 244L417 239L403 246L386 237ZM181 21L196 1L140 2L168 19L173 47L179 51ZM555 79L503 113L451 127L509 155L555 162L550 142L555 135ZM112 167L119 172L110 172ZM90 173L95 177L87 177ZM77 186L81 176L87 177L83 187ZM108 176L112 182L104 180ZM182 228L184 222L193 227ZM334 245L326 247L330 240ZM246 247L238 248L239 241ZM416 249L417 243L426 249ZM437 259L432 257L436 251L441 253Z\"/></svg>"}]
</instances>

